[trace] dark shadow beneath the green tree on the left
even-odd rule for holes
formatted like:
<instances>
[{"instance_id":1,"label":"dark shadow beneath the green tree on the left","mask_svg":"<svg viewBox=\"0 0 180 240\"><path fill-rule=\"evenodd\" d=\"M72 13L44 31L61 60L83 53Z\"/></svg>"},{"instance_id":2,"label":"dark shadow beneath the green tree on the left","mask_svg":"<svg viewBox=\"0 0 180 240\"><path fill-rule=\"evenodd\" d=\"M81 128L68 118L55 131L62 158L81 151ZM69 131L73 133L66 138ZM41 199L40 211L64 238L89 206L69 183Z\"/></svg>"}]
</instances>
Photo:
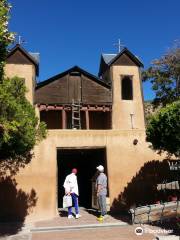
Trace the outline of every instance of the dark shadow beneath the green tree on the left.
<instances>
[{"instance_id":1,"label":"dark shadow beneath the green tree on the left","mask_svg":"<svg viewBox=\"0 0 180 240\"><path fill-rule=\"evenodd\" d=\"M17 182L13 177L1 177L0 235L17 233L36 202L37 196L34 189L30 193L26 193L17 188Z\"/></svg>"}]
</instances>

